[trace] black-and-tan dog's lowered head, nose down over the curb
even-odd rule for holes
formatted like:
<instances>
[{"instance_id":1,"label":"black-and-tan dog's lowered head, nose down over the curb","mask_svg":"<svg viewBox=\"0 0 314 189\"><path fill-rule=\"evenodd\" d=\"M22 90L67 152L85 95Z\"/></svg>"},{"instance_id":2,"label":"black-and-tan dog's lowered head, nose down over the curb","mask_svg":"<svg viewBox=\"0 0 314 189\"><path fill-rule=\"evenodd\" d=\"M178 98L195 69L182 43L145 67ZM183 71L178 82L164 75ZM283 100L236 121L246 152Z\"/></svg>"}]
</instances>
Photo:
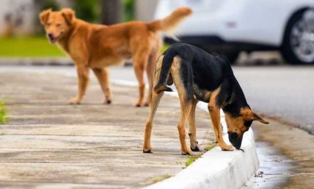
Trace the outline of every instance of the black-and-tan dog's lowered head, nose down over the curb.
<instances>
[{"instance_id":1,"label":"black-and-tan dog's lowered head, nose down over the curb","mask_svg":"<svg viewBox=\"0 0 314 189\"><path fill-rule=\"evenodd\" d=\"M253 121L259 121L268 124L259 115L249 108L240 110L240 116L234 117L229 113L225 113L226 123L228 127L229 141L236 149L241 147L243 134L250 129Z\"/></svg>"}]
</instances>

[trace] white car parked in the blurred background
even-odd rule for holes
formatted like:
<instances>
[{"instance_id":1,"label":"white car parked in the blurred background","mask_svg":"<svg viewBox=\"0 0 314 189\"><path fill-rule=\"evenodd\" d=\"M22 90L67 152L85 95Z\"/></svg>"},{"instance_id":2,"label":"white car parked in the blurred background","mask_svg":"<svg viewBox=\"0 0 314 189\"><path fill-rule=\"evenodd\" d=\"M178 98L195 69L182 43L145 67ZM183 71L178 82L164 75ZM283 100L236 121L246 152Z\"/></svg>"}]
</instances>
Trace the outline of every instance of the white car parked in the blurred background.
<instances>
[{"instance_id":1,"label":"white car parked in the blurred background","mask_svg":"<svg viewBox=\"0 0 314 189\"><path fill-rule=\"evenodd\" d=\"M159 0L156 19L179 6L193 9L178 29L183 43L231 62L240 51L280 50L291 64L314 63L314 0Z\"/></svg>"}]
</instances>

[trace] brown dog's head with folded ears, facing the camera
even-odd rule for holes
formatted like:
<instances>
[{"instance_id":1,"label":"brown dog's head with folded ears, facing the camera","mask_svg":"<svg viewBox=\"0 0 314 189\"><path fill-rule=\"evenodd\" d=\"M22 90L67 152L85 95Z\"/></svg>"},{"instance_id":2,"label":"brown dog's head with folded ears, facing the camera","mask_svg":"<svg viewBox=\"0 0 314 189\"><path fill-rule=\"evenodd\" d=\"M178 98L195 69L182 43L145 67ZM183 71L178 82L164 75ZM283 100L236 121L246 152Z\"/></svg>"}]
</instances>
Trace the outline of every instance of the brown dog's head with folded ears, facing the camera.
<instances>
[{"instance_id":1,"label":"brown dog's head with folded ears, facing the camera","mask_svg":"<svg viewBox=\"0 0 314 189\"><path fill-rule=\"evenodd\" d=\"M55 43L71 29L75 19L75 12L68 8L60 11L48 9L40 13L39 19L45 27L50 42Z\"/></svg>"}]
</instances>

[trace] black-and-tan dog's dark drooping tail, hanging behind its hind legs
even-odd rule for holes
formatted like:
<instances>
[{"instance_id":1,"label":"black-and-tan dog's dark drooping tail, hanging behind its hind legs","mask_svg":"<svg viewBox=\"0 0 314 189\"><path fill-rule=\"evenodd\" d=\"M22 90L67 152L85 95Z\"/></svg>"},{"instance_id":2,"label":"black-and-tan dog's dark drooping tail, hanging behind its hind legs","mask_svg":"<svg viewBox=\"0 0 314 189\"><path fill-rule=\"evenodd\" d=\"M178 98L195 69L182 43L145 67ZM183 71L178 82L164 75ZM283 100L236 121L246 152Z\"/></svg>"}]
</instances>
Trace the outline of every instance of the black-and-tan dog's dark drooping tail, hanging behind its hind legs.
<instances>
[{"instance_id":1,"label":"black-and-tan dog's dark drooping tail, hanging behind its hind legs","mask_svg":"<svg viewBox=\"0 0 314 189\"><path fill-rule=\"evenodd\" d=\"M161 57L161 56L160 56ZM170 68L173 62L173 55L167 55L167 52L164 53L163 58L158 58L157 60L157 66L156 66L156 72L155 74L159 75L158 81L154 83L157 83L154 86L154 92L159 94L163 91L172 92L173 90L167 86L171 85L173 83L172 77L170 74ZM160 65L161 64L161 65ZM156 78L156 77L155 77Z\"/></svg>"}]
</instances>

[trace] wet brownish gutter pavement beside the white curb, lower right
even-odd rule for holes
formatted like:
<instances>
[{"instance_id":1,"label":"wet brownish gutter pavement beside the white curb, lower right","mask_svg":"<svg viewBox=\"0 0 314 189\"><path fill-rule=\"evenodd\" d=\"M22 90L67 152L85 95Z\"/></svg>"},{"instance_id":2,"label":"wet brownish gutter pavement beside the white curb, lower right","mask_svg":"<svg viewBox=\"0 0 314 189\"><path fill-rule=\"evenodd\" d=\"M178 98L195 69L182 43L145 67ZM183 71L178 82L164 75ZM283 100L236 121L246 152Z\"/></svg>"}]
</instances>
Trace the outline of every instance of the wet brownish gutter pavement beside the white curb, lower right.
<instances>
[{"instance_id":1,"label":"wet brownish gutter pavement beside the white curb, lower right","mask_svg":"<svg viewBox=\"0 0 314 189\"><path fill-rule=\"evenodd\" d=\"M262 174L245 189L313 189L314 135L266 120L269 125L253 126Z\"/></svg>"}]
</instances>

